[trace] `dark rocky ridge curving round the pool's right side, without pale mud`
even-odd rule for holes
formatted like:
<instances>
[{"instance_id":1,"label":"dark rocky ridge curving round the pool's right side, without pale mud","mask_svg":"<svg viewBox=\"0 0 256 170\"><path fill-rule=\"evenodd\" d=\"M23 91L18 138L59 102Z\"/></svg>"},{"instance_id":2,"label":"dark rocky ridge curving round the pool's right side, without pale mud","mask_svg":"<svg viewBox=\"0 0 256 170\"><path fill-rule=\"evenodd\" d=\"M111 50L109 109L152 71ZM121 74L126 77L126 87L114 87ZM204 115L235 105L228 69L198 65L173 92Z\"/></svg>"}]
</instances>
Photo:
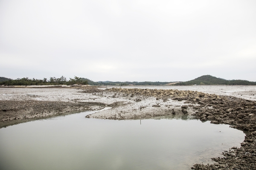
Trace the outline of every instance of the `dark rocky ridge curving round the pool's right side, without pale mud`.
<instances>
[{"instance_id":1,"label":"dark rocky ridge curving round the pool's right side, without pale mud","mask_svg":"<svg viewBox=\"0 0 256 170\"><path fill-rule=\"evenodd\" d=\"M158 100L186 100L186 103L199 104L198 111L193 116L203 122L209 120L214 124L228 124L243 130L246 136L240 148L230 148L229 151L222 153L223 158L212 158L214 164L195 164L192 169L256 170L256 101L198 91L121 88L105 91L121 93L125 96L155 96Z\"/></svg>"}]
</instances>

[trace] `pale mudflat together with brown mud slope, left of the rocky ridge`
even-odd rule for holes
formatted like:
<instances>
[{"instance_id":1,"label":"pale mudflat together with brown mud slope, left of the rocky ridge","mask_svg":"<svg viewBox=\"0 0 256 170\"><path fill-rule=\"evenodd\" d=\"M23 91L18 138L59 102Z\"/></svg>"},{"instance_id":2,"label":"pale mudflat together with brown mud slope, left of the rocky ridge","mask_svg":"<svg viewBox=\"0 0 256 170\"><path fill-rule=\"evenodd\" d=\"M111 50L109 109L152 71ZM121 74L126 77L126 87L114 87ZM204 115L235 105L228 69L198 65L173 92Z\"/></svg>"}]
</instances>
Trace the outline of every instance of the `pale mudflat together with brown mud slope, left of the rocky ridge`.
<instances>
[{"instance_id":1,"label":"pale mudflat together with brown mud slope, left of the rocky ridge","mask_svg":"<svg viewBox=\"0 0 256 170\"><path fill-rule=\"evenodd\" d=\"M99 96L89 94L96 91L102 90L81 87L79 89L2 88L0 89L0 128L64 113L99 110L104 108L105 104L99 102Z\"/></svg>"}]
</instances>

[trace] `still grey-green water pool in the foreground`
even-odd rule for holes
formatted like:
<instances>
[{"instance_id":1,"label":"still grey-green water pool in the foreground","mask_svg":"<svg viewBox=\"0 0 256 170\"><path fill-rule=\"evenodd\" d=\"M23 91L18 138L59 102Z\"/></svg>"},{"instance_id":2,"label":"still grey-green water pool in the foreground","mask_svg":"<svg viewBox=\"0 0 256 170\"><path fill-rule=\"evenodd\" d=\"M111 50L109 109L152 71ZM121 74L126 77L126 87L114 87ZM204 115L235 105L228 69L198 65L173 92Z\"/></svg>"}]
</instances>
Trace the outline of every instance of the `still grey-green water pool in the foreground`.
<instances>
[{"instance_id":1,"label":"still grey-green water pool in the foreground","mask_svg":"<svg viewBox=\"0 0 256 170\"><path fill-rule=\"evenodd\" d=\"M82 112L0 129L1 170L189 170L244 133L196 119L86 119Z\"/></svg>"}]
</instances>

